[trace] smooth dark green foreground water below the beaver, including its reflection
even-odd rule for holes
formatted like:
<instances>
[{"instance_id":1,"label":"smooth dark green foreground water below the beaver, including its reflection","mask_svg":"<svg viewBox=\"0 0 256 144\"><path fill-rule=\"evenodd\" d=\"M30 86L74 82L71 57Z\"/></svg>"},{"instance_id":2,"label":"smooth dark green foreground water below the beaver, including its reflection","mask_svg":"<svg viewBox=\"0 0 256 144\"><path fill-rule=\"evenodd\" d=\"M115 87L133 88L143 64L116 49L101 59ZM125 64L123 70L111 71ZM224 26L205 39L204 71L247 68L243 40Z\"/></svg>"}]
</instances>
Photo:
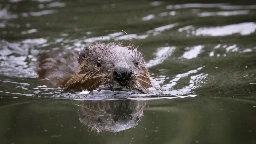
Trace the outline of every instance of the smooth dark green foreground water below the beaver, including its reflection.
<instances>
[{"instance_id":1,"label":"smooth dark green foreground water below the beaver, including its reflection","mask_svg":"<svg viewBox=\"0 0 256 144\"><path fill-rule=\"evenodd\" d=\"M12 103L0 109L1 143L255 142L256 119L248 114L255 114L253 100L187 98L148 101L147 106L129 100Z\"/></svg>"}]
</instances>

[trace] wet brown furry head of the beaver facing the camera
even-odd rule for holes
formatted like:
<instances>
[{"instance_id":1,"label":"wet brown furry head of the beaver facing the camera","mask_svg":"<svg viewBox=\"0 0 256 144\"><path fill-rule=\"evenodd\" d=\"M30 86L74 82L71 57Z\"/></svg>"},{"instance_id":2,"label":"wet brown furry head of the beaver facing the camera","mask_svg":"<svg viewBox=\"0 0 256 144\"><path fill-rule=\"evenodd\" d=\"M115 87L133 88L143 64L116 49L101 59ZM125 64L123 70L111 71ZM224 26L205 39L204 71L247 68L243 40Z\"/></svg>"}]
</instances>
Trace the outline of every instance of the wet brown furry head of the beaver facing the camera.
<instances>
[{"instance_id":1,"label":"wet brown furry head of the beaver facing the camera","mask_svg":"<svg viewBox=\"0 0 256 144\"><path fill-rule=\"evenodd\" d=\"M82 50L78 72L65 81L66 89L128 88L146 93L151 87L142 54L133 46L97 43Z\"/></svg>"}]
</instances>

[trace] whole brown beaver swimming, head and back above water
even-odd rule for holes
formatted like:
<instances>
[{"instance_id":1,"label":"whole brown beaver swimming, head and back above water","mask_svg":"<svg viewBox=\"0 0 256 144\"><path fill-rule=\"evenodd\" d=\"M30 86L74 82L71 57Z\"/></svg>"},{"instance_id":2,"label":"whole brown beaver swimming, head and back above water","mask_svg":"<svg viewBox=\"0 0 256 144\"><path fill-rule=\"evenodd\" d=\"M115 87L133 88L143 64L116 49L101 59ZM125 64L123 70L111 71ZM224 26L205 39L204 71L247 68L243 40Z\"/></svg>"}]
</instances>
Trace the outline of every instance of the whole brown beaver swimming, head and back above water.
<instances>
[{"instance_id":1,"label":"whole brown beaver swimming, head and back above water","mask_svg":"<svg viewBox=\"0 0 256 144\"><path fill-rule=\"evenodd\" d=\"M145 60L134 45L95 43L80 52L46 52L36 62L39 78L64 90L131 89L152 86Z\"/></svg>"}]
</instances>

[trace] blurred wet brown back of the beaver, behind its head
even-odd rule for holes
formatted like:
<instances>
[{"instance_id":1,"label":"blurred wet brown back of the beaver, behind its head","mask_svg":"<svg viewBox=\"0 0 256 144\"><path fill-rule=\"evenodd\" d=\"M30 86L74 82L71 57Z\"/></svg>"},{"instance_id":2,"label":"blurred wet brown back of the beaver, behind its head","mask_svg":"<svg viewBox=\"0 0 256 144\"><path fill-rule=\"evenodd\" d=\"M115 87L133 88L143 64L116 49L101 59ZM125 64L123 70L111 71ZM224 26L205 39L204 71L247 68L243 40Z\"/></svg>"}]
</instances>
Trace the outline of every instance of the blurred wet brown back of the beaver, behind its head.
<instances>
[{"instance_id":1,"label":"blurred wet brown back of the beaver, behind its head","mask_svg":"<svg viewBox=\"0 0 256 144\"><path fill-rule=\"evenodd\" d=\"M61 86L70 75L78 71L78 51L44 52L38 56L36 72L39 78L49 79L56 86Z\"/></svg>"}]
</instances>

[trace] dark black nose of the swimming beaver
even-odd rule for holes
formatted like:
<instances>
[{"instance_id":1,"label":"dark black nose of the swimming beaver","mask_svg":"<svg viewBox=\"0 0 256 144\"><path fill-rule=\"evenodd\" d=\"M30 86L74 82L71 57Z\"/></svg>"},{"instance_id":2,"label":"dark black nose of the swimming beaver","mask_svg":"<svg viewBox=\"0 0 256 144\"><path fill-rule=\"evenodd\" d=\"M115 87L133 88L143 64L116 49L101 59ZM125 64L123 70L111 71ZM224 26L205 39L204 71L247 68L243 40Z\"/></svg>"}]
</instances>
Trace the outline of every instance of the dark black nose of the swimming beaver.
<instances>
[{"instance_id":1,"label":"dark black nose of the swimming beaver","mask_svg":"<svg viewBox=\"0 0 256 144\"><path fill-rule=\"evenodd\" d=\"M126 85L132 78L132 71L129 68L118 67L113 72L114 79L120 85Z\"/></svg>"}]
</instances>

